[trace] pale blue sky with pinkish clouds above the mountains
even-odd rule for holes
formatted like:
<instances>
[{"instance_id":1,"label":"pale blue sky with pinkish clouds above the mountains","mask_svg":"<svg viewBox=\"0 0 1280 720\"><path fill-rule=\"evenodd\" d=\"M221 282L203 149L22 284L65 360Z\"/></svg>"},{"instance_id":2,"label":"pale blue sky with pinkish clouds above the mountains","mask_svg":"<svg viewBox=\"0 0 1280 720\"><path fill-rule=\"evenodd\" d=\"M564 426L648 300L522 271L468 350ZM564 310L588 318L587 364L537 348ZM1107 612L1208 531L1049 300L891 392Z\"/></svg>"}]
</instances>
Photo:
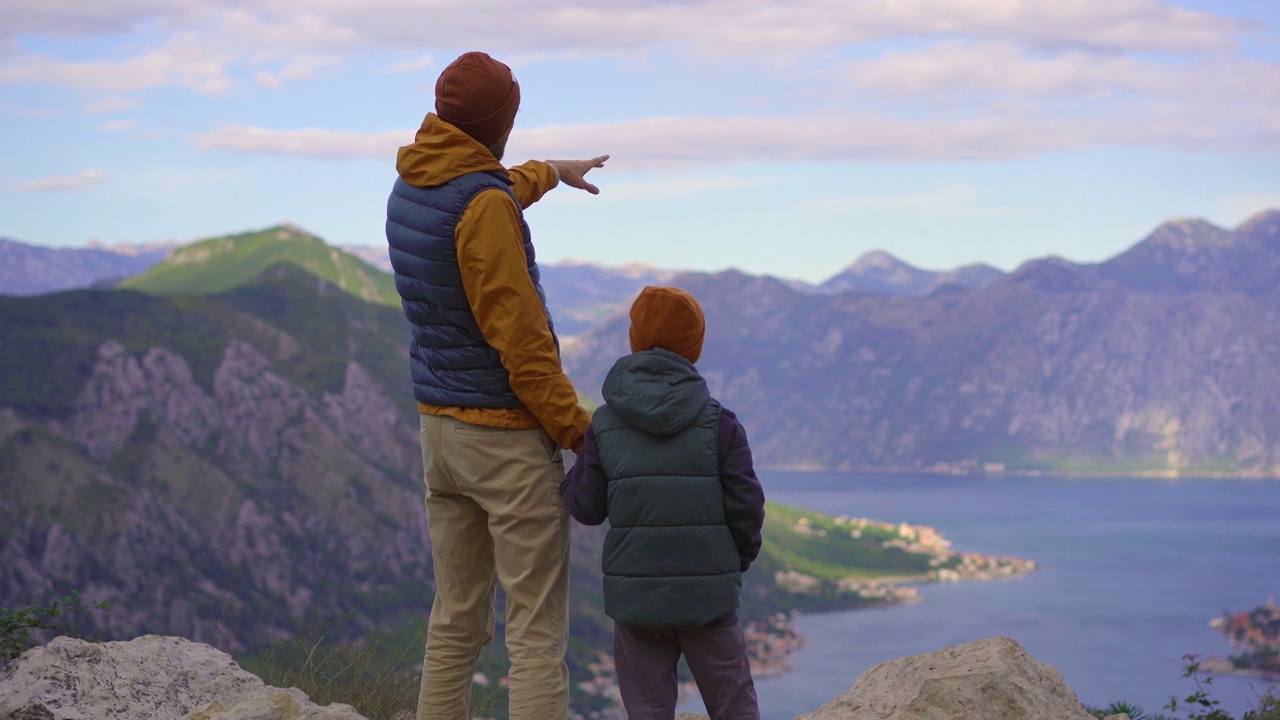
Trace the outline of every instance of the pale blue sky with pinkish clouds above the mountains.
<instances>
[{"instance_id":1,"label":"pale blue sky with pinkish clouds above the mountains","mask_svg":"<svg viewBox=\"0 0 1280 720\"><path fill-rule=\"evenodd\" d=\"M1011 270L1280 208L1274 0L5 0L0 237L383 245L470 50L509 164L611 155L527 210L541 261Z\"/></svg>"}]
</instances>

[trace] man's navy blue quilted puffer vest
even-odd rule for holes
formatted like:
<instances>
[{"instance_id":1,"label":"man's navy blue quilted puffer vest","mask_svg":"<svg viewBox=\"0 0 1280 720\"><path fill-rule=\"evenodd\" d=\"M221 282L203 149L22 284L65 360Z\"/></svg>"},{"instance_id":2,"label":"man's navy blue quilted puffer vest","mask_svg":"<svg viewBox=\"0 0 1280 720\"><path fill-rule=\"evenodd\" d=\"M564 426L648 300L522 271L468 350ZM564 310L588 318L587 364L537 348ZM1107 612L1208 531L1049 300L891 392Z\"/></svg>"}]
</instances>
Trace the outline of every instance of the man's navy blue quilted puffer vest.
<instances>
[{"instance_id":1,"label":"man's navy blue quilted puffer vest","mask_svg":"<svg viewBox=\"0 0 1280 720\"><path fill-rule=\"evenodd\" d=\"M413 397L419 402L453 407L521 406L498 351L485 342L471 314L454 243L462 211L476 193L490 188L511 195L506 176L476 172L438 187L413 187L396 178L387 200L387 243L396 270L396 290L404 316L413 327L410 370ZM520 232L525 238L529 275L547 313L547 296L524 213ZM552 324L549 313L547 324ZM559 347L558 340L556 346Z\"/></svg>"}]
</instances>

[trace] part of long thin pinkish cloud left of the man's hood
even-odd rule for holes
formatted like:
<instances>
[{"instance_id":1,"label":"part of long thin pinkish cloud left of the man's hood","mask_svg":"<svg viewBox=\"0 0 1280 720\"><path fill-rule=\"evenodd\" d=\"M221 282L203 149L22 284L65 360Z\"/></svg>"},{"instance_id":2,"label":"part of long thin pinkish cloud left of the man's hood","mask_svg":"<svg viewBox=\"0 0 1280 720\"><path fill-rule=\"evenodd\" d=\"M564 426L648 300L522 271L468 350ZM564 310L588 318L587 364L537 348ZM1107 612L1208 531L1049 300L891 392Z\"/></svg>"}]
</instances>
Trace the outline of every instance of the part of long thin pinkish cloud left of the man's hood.
<instances>
[{"instance_id":1,"label":"part of long thin pinkish cloud left of the man's hood","mask_svg":"<svg viewBox=\"0 0 1280 720\"><path fill-rule=\"evenodd\" d=\"M394 158L401 145L413 141L412 132L342 132L317 128L266 129L228 123L192 137L201 150L230 150L241 154L302 155L308 158Z\"/></svg>"}]
</instances>

